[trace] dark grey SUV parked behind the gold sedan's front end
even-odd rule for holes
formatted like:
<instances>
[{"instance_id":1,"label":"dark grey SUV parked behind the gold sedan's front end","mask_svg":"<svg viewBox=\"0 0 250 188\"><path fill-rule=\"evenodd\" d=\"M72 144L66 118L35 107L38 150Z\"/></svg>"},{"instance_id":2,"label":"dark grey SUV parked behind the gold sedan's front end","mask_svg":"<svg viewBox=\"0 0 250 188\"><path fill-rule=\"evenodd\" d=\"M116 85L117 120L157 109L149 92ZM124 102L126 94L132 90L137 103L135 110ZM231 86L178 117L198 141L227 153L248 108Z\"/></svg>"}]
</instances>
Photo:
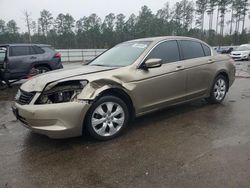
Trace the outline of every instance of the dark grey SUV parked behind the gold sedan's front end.
<instances>
[{"instance_id":1,"label":"dark grey SUV parked behind the gold sedan's front end","mask_svg":"<svg viewBox=\"0 0 250 188\"><path fill-rule=\"evenodd\" d=\"M5 77L18 80L35 74L61 69L61 55L50 45L43 44L5 44ZM3 55L3 53L1 53Z\"/></svg>"}]
</instances>

